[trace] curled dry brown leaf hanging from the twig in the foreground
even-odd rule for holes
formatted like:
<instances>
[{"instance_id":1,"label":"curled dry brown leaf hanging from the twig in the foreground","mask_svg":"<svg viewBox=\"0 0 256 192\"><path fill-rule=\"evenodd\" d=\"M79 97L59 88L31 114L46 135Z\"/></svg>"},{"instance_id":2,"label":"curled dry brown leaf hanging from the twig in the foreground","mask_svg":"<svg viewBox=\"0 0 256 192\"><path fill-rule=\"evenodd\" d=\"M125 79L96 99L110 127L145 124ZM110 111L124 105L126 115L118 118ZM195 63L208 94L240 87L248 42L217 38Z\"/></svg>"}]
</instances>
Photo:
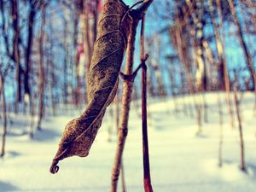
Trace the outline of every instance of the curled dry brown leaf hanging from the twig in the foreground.
<instances>
[{"instance_id":1,"label":"curled dry brown leaf hanging from the twig in the foreground","mask_svg":"<svg viewBox=\"0 0 256 192\"><path fill-rule=\"evenodd\" d=\"M82 115L71 120L61 137L59 149L50 172L58 172L59 160L89 154L90 146L102 125L102 118L113 101L119 82L119 71L123 61L126 38L130 32L131 19L125 16L128 7L121 0L107 0L102 19L98 23L97 40L90 63L88 97L89 103Z\"/></svg>"}]
</instances>

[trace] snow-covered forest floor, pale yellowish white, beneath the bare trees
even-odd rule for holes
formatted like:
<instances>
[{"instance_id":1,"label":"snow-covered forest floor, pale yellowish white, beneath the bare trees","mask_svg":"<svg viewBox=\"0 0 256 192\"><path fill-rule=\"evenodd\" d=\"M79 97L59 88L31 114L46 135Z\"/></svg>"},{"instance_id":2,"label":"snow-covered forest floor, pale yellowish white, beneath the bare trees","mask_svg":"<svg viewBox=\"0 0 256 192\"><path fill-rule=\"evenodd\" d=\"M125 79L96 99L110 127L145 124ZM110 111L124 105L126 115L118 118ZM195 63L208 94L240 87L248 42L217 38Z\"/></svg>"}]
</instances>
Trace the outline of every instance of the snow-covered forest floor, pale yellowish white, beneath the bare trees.
<instances>
[{"instance_id":1,"label":"snow-covered forest floor, pale yellowish white, beneath the bare trees","mask_svg":"<svg viewBox=\"0 0 256 192\"><path fill-rule=\"evenodd\" d=\"M224 98L224 95L222 95ZM183 102L177 101L181 109ZM172 99L149 101L148 137L151 177L156 192L255 192L256 191L256 118L253 116L253 95L247 93L242 104L247 173L239 169L240 148L236 129L230 128L227 109L224 110L224 165L218 167L218 105L217 94L208 94L208 123L196 136L195 118L183 110L173 113ZM136 105L132 104L131 108ZM225 105L224 105L225 107ZM0 159L0 191L86 191L104 192L110 189L115 154L114 119L106 114L102 128L86 158L62 160L60 171L51 175L49 166L55 155L64 125L79 115L79 111L61 110L57 117L48 116L43 131L33 140L25 134L30 118L12 115L9 125L6 156ZM236 116L235 116L236 117ZM112 127L112 142L108 130ZM127 191L143 191L142 133L139 113L131 111L129 133L125 145L124 166ZM119 183L120 186L120 183Z\"/></svg>"}]
</instances>

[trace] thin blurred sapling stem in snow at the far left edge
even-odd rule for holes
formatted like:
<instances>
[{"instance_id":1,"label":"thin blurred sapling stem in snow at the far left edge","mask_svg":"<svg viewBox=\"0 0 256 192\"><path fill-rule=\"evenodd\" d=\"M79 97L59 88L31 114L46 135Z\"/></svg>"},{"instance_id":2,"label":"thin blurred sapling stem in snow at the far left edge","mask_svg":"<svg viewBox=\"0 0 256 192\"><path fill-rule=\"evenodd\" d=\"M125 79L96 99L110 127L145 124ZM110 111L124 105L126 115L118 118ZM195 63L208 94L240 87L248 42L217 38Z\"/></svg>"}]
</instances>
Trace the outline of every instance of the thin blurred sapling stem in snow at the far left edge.
<instances>
[{"instance_id":1,"label":"thin blurred sapling stem in snow at the far left edge","mask_svg":"<svg viewBox=\"0 0 256 192\"><path fill-rule=\"evenodd\" d=\"M1 106L2 106L2 121L3 121L3 137L2 137L2 149L0 156L3 157L5 154L5 143L7 134L7 117L6 117L6 102L4 93L4 79L3 74L0 74L0 91L1 91Z\"/></svg>"}]
</instances>

